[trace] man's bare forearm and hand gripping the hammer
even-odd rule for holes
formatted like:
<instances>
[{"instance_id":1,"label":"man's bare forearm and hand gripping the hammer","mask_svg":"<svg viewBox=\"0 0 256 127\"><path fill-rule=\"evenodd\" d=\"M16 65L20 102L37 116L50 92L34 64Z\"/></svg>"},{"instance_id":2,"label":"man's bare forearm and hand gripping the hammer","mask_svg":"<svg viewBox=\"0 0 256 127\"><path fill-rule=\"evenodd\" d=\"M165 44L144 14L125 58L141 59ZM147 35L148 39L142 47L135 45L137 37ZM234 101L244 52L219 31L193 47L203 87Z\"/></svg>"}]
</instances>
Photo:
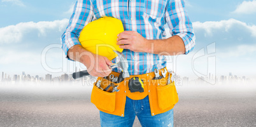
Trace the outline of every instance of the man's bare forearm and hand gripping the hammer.
<instances>
[{"instance_id":1,"label":"man's bare forearm and hand gripping the hammer","mask_svg":"<svg viewBox=\"0 0 256 127\"><path fill-rule=\"evenodd\" d=\"M111 69L108 66L113 63L108 58L91 53L85 50L80 44L76 44L69 49L68 57L71 60L84 64L91 76L105 77L111 73Z\"/></svg>"}]
</instances>

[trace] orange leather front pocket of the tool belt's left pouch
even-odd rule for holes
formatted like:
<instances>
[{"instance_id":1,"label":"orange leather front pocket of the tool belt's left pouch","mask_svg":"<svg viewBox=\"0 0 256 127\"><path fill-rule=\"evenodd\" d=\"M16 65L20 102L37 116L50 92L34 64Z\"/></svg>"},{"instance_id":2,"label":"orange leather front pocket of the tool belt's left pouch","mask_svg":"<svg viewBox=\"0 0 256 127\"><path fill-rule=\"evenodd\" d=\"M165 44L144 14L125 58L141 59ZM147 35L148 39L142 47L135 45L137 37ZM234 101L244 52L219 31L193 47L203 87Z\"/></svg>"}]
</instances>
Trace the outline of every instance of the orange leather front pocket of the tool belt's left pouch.
<instances>
[{"instance_id":1,"label":"orange leather front pocket of the tool belt's left pouch","mask_svg":"<svg viewBox=\"0 0 256 127\"><path fill-rule=\"evenodd\" d=\"M110 93L97 88L96 85L92 88L92 95L90 102L96 105L97 108L106 110L108 112L115 111L115 95L116 92Z\"/></svg>"}]
</instances>

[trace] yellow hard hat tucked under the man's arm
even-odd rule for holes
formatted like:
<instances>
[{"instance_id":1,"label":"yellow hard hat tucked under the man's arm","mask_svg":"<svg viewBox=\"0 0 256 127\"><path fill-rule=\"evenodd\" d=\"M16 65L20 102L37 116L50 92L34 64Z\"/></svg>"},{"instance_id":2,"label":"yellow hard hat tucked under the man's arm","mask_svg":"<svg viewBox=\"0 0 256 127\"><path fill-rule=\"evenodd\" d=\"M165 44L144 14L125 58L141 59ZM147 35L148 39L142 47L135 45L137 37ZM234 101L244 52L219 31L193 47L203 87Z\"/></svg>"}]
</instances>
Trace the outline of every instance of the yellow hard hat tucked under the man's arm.
<instances>
[{"instance_id":1,"label":"yellow hard hat tucked under the man's arm","mask_svg":"<svg viewBox=\"0 0 256 127\"><path fill-rule=\"evenodd\" d=\"M113 50L121 53L123 51L117 45L117 35L123 31L124 27L120 20L103 17L88 23L80 33L79 41L86 50L112 60L117 57Z\"/></svg>"}]
</instances>

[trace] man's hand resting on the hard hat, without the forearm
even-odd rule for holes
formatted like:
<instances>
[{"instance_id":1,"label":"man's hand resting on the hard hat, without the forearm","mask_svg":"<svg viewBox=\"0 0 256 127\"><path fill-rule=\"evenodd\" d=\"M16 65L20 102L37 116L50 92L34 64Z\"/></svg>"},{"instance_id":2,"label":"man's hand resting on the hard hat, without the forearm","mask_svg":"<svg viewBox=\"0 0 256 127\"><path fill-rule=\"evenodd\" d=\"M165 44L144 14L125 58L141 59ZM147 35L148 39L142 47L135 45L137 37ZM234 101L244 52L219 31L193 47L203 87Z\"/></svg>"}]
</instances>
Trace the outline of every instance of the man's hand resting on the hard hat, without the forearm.
<instances>
[{"instance_id":1,"label":"man's hand resting on the hard hat, without the forearm","mask_svg":"<svg viewBox=\"0 0 256 127\"><path fill-rule=\"evenodd\" d=\"M118 34L117 44L120 48L135 52L148 52L150 43L136 31L124 31Z\"/></svg>"}]
</instances>

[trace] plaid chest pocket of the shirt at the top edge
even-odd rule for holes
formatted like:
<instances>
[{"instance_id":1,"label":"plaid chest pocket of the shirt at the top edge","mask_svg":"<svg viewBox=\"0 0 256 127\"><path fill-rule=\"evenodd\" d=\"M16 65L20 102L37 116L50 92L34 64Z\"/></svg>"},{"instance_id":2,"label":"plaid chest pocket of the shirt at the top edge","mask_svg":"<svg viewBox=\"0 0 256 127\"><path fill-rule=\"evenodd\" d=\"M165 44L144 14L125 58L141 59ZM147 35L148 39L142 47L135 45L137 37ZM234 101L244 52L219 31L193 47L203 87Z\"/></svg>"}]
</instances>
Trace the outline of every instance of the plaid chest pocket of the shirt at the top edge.
<instances>
[{"instance_id":1,"label":"plaid chest pocket of the shirt at the top edge","mask_svg":"<svg viewBox=\"0 0 256 127\"><path fill-rule=\"evenodd\" d=\"M155 0L145 0L144 12L151 18L162 17L166 10L167 0L155 1Z\"/></svg>"}]
</instances>

